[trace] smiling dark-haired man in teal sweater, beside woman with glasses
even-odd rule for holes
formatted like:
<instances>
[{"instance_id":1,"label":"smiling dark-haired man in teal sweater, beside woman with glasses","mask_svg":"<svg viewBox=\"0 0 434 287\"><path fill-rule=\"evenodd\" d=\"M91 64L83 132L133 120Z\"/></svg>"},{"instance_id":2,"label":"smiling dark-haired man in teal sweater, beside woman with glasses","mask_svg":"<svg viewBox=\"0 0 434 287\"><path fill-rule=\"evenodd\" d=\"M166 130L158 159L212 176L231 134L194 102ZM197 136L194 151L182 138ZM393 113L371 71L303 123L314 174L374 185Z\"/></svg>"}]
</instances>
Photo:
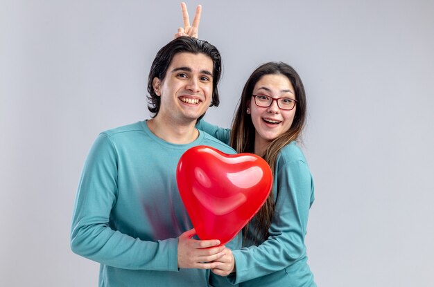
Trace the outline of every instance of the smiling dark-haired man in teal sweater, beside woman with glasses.
<instances>
[{"instance_id":1,"label":"smiling dark-haired man in teal sweater, beside woman with glasses","mask_svg":"<svg viewBox=\"0 0 434 287\"><path fill-rule=\"evenodd\" d=\"M208 286L231 251L194 230L175 179L187 149L234 150L195 128L218 105L221 59L207 41L179 37L157 53L148 77L153 118L101 133L80 179L73 252L101 263L100 286ZM239 248L239 240L228 244ZM224 261L224 260L223 260ZM234 264L234 262L227 262ZM223 268L223 266L222 266Z\"/></svg>"}]
</instances>

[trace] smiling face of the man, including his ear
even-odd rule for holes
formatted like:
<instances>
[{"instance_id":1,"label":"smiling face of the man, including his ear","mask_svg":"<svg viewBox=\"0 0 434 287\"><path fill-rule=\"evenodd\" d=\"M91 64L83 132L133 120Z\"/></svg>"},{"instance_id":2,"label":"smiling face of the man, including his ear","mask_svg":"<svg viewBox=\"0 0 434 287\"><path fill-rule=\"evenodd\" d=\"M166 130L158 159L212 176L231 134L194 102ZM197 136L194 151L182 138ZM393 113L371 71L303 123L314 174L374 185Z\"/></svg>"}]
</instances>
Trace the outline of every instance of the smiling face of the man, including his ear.
<instances>
[{"instance_id":1,"label":"smiling face of the man, including his ear","mask_svg":"<svg viewBox=\"0 0 434 287\"><path fill-rule=\"evenodd\" d=\"M161 98L158 118L191 124L207 111L213 92L213 62L205 54L177 53L164 80L153 80Z\"/></svg>"}]
</instances>

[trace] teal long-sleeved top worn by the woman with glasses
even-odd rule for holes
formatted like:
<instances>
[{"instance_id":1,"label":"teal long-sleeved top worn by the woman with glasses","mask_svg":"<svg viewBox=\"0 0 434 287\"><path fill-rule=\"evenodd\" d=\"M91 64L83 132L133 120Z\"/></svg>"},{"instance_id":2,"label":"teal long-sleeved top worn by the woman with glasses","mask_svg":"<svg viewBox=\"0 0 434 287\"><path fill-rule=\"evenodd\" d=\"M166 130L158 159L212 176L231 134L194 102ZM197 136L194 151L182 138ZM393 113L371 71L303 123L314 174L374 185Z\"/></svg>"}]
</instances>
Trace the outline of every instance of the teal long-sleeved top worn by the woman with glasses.
<instances>
[{"instance_id":1,"label":"teal long-sleeved top worn by the woman with glasses","mask_svg":"<svg viewBox=\"0 0 434 287\"><path fill-rule=\"evenodd\" d=\"M211 136L229 142L230 129L203 120L196 125ZM273 182L275 215L266 241L243 242L234 250L236 272L229 275L239 286L316 286L307 264L304 237L314 200L313 180L306 158L295 142L281 149ZM249 237L257 233L248 230Z\"/></svg>"}]
</instances>

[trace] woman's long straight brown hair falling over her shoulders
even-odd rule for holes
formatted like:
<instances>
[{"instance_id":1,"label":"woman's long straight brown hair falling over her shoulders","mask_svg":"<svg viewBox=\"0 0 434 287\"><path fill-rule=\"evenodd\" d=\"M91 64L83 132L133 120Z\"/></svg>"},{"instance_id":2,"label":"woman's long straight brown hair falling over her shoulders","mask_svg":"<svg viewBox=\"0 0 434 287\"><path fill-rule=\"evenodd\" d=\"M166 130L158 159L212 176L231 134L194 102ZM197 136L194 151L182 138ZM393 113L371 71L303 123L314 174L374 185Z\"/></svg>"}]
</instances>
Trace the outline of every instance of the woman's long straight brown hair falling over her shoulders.
<instances>
[{"instance_id":1,"label":"woman's long straight brown hair falling over her shoulders","mask_svg":"<svg viewBox=\"0 0 434 287\"><path fill-rule=\"evenodd\" d=\"M247 113L247 109L252 100L254 85L257 84L264 75L284 75L288 77L288 80L290 80L295 89L295 100L297 100L297 107L291 127L288 131L282 133L279 137L270 142L265 154L259 155L266 160L271 167L272 174L275 175L276 161L279 152L290 142L299 138L306 120L306 94L302 80L294 68L283 62L268 62L253 71L252 75L250 75L248 81L245 83L240 102L238 103L238 109L232 121L230 145L238 153L254 153L255 129L252 118ZM277 180L277 178L275 178L275 180ZM272 216L275 212L275 202L273 199L275 192L277 191L271 190L266 203L263 204L259 212L254 216L254 233L250 236L247 232L251 223L248 223L244 228L245 238L254 241L254 243L257 243L257 238L259 238L260 241L264 241L268 238L268 229L270 228Z\"/></svg>"}]
</instances>

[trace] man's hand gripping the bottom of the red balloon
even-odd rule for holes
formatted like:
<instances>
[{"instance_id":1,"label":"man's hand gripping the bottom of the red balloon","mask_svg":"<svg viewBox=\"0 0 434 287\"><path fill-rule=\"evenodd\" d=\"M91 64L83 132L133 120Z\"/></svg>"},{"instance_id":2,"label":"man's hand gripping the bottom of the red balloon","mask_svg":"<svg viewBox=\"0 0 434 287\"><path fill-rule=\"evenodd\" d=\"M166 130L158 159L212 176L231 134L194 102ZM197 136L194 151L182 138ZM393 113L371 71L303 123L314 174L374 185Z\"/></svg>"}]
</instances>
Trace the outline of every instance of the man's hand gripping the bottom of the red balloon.
<instances>
[{"instance_id":1,"label":"man's hand gripping the bottom of the red balloon","mask_svg":"<svg viewBox=\"0 0 434 287\"><path fill-rule=\"evenodd\" d=\"M196 234L193 229L180 235L177 243L178 268L213 269L220 266L217 260L225 255L225 246L219 240L191 239ZM232 254L232 253L231 253ZM226 261L227 259L225 259Z\"/></svg>"}]
</instances>

